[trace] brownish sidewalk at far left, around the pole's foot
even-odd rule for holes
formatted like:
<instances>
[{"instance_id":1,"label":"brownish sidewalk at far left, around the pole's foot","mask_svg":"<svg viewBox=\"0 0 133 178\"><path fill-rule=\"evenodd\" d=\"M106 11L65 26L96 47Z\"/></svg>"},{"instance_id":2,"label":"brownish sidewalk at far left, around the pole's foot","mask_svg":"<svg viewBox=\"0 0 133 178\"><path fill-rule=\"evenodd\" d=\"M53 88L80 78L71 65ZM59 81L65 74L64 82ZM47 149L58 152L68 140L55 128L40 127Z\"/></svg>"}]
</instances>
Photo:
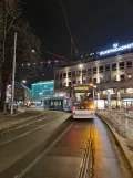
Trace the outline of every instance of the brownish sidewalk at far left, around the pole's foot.
<instances>
[{"instance_id":1,"label":"brownish sidewalk at far left, around the pole's foot","mask_svg":"<svg viewBox=\"0 0 133 178\"><path fill-rule=\"evenodd\" d=\"M23 123L24 121L39 117L43 115L44 112L40 109L25 109L24 113L18 113L11 116L10 114L0 114L0 130L12 127L16 124ZM3 117L2 117L3 116Z\"/></svg>"}]
</instances>

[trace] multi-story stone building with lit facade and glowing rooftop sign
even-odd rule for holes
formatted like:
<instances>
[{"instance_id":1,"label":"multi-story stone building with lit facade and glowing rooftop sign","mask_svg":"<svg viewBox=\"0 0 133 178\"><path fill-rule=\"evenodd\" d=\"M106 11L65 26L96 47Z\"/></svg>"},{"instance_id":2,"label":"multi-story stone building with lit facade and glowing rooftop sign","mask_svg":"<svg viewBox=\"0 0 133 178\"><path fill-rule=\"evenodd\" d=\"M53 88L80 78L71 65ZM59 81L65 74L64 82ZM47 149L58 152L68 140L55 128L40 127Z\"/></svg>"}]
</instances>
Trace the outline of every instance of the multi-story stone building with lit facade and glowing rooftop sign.
<instances>
[{"instance_id":1,"label":"multi-story stone building with lit facade and glowing rooftop sign","mask_svg":"<svg viewBox=\"0 0 133 178\"><path fill-rule=\"evenodd\" d=\"M115 44L113 49L100 52L96 57L85 55L86 57L82 56L82 62L80 60L66 66L57 67L54 71L55 88L66 90L72 84L93 83L96 85L96 98L106 100L110 93L112 104L132 105L133 53L125 50L132 48L133 43L120 48ZM121 51L121 53L117 54L114 51ZM113 53L113 55L109 57L105 55L108 53Z\"/></svg>"}]
</instances>

